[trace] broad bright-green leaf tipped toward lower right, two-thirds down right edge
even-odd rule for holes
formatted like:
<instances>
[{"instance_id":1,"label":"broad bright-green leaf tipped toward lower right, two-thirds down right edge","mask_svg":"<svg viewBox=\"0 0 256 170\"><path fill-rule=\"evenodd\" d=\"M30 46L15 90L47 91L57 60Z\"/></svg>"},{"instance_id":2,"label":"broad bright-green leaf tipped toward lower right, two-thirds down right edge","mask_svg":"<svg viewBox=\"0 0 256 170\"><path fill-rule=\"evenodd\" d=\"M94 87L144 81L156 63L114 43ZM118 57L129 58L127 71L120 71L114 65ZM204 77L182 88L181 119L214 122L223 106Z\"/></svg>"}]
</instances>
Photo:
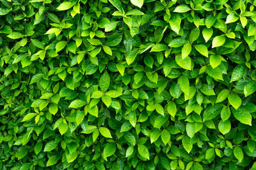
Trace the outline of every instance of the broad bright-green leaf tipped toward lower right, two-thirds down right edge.
<instances>
[{"instance_id":1,"label":"broad bright-green leaf tipped toward lower right, two-thirds down right edge","mask_svg":"<svg viewBox=\"0 0 256 170\"><path fill-rule=\"evenodd\" d=\"M231 111L234 117L237 120L239 120L239 122L246 125L252 125L252 115L248 110L244 108L238 108L237 110L234 108L231 108Z\"/></svg>"}]
</instances>

